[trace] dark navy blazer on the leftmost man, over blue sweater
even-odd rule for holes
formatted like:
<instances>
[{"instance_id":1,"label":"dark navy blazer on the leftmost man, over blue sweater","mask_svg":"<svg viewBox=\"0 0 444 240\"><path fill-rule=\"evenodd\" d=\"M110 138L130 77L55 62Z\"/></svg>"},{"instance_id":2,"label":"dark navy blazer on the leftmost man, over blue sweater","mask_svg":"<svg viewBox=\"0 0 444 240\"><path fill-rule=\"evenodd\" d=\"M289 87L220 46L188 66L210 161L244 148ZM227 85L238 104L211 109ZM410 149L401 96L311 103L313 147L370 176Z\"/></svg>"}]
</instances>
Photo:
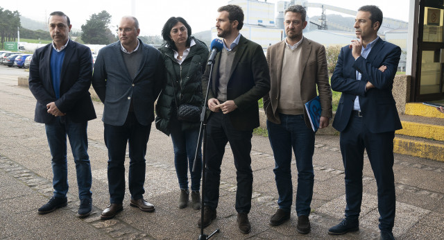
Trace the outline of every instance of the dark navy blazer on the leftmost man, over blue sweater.
<instances>
[{"instance_id":1,"label":"dark navy blazer on the leftmost man, over blue sweater","mask_svg":"<svg viewBox=\"0 0 444 240\"><path fill-rule=\"evenodd\" d=\"M29 66L29 89L37 99L34 120L51 123L56 117L49 114L46 104L55 102L60 112L71 121L80 123L96 118L96 112L89 94L92 77L91 50L82 44L69 40L65 49L60 74L60 98L56 99L51 77L52 44L35 50Z\"/></svg>"}]
</instances>

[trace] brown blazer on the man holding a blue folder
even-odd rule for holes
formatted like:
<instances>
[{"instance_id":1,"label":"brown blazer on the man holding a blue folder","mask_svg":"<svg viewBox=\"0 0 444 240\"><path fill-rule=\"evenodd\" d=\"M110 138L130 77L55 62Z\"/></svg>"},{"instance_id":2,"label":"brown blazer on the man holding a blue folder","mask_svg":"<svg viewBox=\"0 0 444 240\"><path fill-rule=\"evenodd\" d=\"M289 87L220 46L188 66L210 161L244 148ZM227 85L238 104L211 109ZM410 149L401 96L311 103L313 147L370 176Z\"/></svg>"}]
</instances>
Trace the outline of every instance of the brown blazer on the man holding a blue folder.
<instances>
[{"instance_id":1,"label":"brown blazer on the man holding a blue folder","mask_svg":"<svg viewBox=\"0 0 444 240\"><path fill-rule=\"evenodd\" d=\"M280 97L280 83L282 65L284 63L284 50L287 47L285 40L268 47L266 60L270 69L271 90L264 96L264 110L266 118L276 124L280 124L278 103ZM332 117L332 89L328 80L327 58L325 58L325 47L317 42L304 37L300 46L299 71L302 72L300 86L300 97L302 103L307 103L316 97L316 85L321 98L321 116ZM304 111L305 125L311 129L311 123L307 112Z\"/></svg>"}]
</instances>

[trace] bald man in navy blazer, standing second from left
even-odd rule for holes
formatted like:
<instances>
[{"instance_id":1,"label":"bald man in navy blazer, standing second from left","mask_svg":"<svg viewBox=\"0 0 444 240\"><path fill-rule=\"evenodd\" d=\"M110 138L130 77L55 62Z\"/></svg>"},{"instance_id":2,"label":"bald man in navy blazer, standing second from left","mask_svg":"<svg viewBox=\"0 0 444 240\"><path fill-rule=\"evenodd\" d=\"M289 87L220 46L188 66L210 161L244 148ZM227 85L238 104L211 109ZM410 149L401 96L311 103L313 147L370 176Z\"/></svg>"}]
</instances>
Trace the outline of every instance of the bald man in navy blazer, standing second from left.
<instances>
[{"instance_id":1,"label":"bald man in navy blazer, standing second from left","mask_svg":"<svg viewBox=\"0 0 444 240\"><path fill-rule=\"evenodd\" d=\"M108 187L110 205L101 219L113 218L123 209L125 195L126 143L129 143L128 185L130 206L154 212L144 200L145 154L154 121L154 101L164 83L160 51L139 40L139 22L122 17L119 40L105 46L97 55L92 85L102 103L105 144L108 148Z\"/></svg>"}]
</instances>

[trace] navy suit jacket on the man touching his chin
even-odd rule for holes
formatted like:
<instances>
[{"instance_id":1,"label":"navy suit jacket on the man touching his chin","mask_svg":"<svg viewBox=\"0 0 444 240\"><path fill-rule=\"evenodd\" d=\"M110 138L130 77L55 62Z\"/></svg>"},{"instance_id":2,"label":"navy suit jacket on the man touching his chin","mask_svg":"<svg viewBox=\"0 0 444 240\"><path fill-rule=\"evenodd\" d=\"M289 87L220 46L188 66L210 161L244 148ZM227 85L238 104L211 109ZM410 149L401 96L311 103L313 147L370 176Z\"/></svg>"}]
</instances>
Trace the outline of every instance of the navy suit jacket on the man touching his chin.
<instances>
[{"instance_id":1,"label":"navy suit jacket on the man touching his chin","mask_svg":"<svg viewBox=\"0 0 444 240\"><path fill-rule=\"evenodd\" d=\"M370 132L391 132L402 128L391 92L400 55L399 46L380 38L367 58L359 57L355 60L352 49L348 46L341 49L332 76L332 89L342 92L333 121L336 130L341 132L347 127L356 96L359 96L364 124ZM378 70L382 65L387 67L384 72ZM361 80L356 80L356 71L361 73ZM375 88L366 91L367 81Z\"/></svg>"}]
</instances>

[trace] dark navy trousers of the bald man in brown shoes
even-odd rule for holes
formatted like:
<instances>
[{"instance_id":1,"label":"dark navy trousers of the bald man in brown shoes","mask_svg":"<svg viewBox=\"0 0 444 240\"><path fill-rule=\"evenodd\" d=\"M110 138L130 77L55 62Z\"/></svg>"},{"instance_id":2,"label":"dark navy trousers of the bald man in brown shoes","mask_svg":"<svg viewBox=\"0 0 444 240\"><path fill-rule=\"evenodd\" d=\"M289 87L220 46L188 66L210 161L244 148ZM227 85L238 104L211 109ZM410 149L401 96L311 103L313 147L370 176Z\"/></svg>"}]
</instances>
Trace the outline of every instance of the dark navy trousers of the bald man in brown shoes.
<instances>
[{"instance_id":1,"label":"dark navy trousers of the bald man in brown shoes","mask_svg":"<svg viewBox=\"0 0 444 240\"><path fill-rule=\"evenodd\" d=\"M130 170L128 187L131 198L139 200L145 193L145 155L151 124L141 125L134 112L129 112L123 126L104 123L105 145L108 148L108 188L110 203L121 204L125 196L126 143L129 144Z\"/></svg>"}]
</instances>

